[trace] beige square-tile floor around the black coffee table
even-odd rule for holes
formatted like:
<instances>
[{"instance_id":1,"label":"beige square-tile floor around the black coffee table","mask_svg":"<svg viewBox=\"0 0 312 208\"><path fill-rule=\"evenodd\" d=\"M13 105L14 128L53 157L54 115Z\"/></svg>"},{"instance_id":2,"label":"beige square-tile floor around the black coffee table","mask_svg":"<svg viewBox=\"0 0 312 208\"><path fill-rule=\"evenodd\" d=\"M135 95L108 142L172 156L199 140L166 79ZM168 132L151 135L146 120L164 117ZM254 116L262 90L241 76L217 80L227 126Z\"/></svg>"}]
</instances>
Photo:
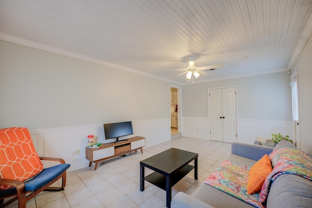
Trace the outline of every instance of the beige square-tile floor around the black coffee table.
<instances>
[{"instance_id":1,"label":"beige square-tile floor around the black coffee table","mask_svg":"<svg viewBox=\"0 0 312 208\"><path fill-rule=\"evenodd\" d=\"M139 161L169 148L198 153L198 180L194 170L172 188L192 195L205 178L230 154L231 144L180 137L94 166L67 173L65 190L43 191L27 202L27 208L165 208L166 192L145 182L139 190ZM145 174L152 171L145 168ZM11 204L12 205L12 204ZM17 208L13 204L10 208Z\"/></svg>"}]
</instances>

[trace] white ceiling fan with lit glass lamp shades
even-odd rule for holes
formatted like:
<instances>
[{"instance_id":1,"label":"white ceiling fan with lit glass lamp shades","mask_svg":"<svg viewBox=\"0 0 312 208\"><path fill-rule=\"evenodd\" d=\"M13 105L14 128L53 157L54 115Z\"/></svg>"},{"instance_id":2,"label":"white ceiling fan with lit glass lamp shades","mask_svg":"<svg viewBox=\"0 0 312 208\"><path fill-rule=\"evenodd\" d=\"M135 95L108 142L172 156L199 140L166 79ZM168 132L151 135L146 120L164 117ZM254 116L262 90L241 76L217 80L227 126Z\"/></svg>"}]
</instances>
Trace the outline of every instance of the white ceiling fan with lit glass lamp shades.
<instances>
[{"instance_id":1,"label":"white ceiling fan with lit glass lamp shades","mask_svg":"<svg viewBox=\"0 0 312 208\"><path fill-rule=\"evenodd\" d=\"M186 74L186 78L188 79L188 81L190 81L190 79L193 78L194 82L194 76L195 78L197 78L200 75L202 76L208 75L208 73L204 72L205 70L215 70L215 68L220 68L223 66L223 64L216 64L211 66L197 67L196 61L194 61L193 59L194 57L190 57L189 66L186 67L186 69L168 69L167 71L184 71L177 76Z\"/></svg>"}]
</instances>

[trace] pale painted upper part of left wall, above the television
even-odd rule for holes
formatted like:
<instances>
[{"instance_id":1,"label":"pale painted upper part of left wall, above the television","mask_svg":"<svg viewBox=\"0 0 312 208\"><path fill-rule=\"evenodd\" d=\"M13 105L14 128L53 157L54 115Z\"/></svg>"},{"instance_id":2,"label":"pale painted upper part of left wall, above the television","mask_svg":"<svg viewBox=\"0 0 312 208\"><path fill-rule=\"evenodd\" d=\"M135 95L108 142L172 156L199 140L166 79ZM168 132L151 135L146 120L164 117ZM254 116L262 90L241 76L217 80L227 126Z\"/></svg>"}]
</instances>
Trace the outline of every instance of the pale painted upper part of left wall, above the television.
<instances>
[{"instance_id":1,"label":"pale painted upper part of left wall, above the television","mask_svg":"<svg viewBox=\"0 0 312 208\"><path fill-rule=\"evenodd\" d=\"M170 118L169 82L7 41L0 69L0 128Z\"/></svg>"}]
</instances>

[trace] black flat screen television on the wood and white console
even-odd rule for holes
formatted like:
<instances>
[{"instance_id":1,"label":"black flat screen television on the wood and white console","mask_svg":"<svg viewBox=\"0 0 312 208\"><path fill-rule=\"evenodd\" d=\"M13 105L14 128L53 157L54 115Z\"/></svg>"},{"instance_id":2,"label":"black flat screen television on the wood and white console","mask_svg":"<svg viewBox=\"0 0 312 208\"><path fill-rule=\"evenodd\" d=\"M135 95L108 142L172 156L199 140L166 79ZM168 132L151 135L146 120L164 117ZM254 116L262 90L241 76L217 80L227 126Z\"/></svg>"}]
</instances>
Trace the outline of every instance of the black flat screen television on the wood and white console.
<instances>
[{"instance_id":1,"label":"black flat screen television on the wood and white console","mask_svg":"<svg viewBox=\"0 0 312 208\"><path fill-rule=\"evenodd\" d=\"M117 138L116 142L119 141L120 136L126 136L133 134L132 122L119 122L119 123L108 123L104 124L105 139ZM126 139L123 139L124 141Z\"/></svg>"}]
</instances>

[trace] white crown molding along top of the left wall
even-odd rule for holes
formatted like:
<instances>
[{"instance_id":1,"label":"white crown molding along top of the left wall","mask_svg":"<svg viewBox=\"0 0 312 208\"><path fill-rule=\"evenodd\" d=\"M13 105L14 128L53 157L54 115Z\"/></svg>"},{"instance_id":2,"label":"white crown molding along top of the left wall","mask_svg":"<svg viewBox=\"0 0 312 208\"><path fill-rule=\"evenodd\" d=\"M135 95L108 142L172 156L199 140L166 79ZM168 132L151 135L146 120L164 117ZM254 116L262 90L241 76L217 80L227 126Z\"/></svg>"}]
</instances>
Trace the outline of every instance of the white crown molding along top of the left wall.
<instances>
[{"instance_id":1,"label":"white crown molding along top of the left wall","mask_svg":"<svg viewBox=\"0 0 312 208\"><path fill-rule=\"evenodd\" d=\"M145 73L145 72L141 72L141 71L138 71L136 69L132 69L132 68L129 68L129 67L126 67L126 66L121 66L121 65L118 65L118 64L115 64L115 63L111 63L111 62L100 60L100 59L93 58L93 57L84 56L84 55L81 55L81 54L78 54L78 53L74 53L74 52L71 52L71 51L66 51L66 50L63 50L63 49L60 49L60 48L56 48L56 47L53 47L53 46L41 44L41 43L38 43L38 42L35 42L35 41L31 41L31 40L27 40L27 39L18 38L18 37L15 37L15 36L7 35L5 33L0 33L0 40L5 40L5 41L8 41L8 42L12 42L12 43L28 46L28 47L31 47L31 48L36 48L36 49L39 49L39 50L43 50L43 51L47 51L47 52L63 55L63 56L66 56L66 57L72 57L72 58L77 58L77 59L88 61L88 62L92 62L92 63L97 63L97 64L100 64L100 65L103 65L103 66L108 66L108 67L120 69L120 70L123 70L123 71L131 72L131 73L142 75L142 76L148 76L148 77L159 79L159 80L166 81L166 82L171 82L171 83L175 83L175 84L179 84L179 85L181 84L180 82L176 82L176 81L173 81L173 80L170 80L170 79L166 79L164 77L155 76L155 75L152 75L152 74L149 74L149 73Z\"/></svg>"}]
</instances>

